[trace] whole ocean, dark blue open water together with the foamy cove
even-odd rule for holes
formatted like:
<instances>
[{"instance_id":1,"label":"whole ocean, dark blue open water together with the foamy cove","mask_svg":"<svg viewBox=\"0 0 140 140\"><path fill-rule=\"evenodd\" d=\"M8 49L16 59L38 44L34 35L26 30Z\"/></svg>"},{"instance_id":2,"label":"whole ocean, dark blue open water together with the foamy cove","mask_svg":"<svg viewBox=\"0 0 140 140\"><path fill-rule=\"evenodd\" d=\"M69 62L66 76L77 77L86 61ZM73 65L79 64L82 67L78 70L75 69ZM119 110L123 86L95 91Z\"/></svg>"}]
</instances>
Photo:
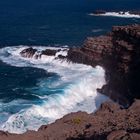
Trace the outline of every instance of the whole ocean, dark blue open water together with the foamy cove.
<instances>
[{"instance_id":1,"label":"whole ocean, dark blue open water together with the foamy cove","mask_svg":"<svg viewBox=\"0 0 140 140\"><path fill-rule=\"evenodd\" d=\"M108 97L97 93L105 71L60 61L56 56L25 59L21 50L82 46L89 36L113 25L140 23L140 18L93 16L107 11L139 10L139 0L1 0L0 1L0 130L37 130L64 115L92 113Z\"/></svg>"}]
</instances>

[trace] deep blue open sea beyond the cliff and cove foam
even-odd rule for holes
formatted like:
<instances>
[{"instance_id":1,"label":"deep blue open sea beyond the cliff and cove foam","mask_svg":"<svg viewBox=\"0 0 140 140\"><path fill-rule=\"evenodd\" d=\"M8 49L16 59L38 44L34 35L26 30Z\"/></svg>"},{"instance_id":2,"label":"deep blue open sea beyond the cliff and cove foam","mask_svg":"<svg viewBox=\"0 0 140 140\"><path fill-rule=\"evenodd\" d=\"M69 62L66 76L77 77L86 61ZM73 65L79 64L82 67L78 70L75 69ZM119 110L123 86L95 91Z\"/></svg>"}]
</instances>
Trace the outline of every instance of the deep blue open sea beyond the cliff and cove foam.
<instances>
[{"instance_id":1,"label":"deep blue open sea beyond the cliff and cove foam","mask_svg":"<svg viewBox=\"0 0 140 140\"><path fill-rule=\"evenodd\" d=\"M0 46L81 45L87 36L112 25L138 22L134 19L92 17L96 9L136 10L139 0L1 0Z\"/></svg>"}]
</instances>

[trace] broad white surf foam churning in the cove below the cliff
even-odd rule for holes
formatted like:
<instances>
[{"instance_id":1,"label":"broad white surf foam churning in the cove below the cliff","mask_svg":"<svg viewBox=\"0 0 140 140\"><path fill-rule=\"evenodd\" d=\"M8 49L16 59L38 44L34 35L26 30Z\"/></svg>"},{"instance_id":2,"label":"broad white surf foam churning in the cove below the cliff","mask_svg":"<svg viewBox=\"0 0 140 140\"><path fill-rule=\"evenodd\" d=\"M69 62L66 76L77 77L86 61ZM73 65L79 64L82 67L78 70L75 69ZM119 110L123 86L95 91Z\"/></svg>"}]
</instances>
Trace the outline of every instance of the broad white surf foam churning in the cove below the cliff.
<instances>
[{"instance_id":1,"label":"broad white surf foam churning in the cove below the cliff","mask_svg":"<svg viewBox=\"0 0 140 140\"><path fill-rule=\"evenodd\" d=\"M59 54L66 56L68 48L61 49L55 56L42 56L40 59L23 58L20 52L27 46L6 47L0 49L0 59L12 66L17 67L36 67L47 72L57 73L60 78L52 84L40 81L38 86L41 89L61 88L63 92L56 90L55 94L42 95L40 98L43 104L32 105L27 109L22 109L11 115L4 122L0 129L4 131L23 133L27 130L37 130L41 125L54 122L70 112L86 111L91 113L108 98L97 93L96 89L105 84L105 72L103 68L83 64L74 64L66 60L56 59ZM39 51L44 47L34 47ZM64 86L66 85L66 86Z\"/></svg>"}]
</instances>

